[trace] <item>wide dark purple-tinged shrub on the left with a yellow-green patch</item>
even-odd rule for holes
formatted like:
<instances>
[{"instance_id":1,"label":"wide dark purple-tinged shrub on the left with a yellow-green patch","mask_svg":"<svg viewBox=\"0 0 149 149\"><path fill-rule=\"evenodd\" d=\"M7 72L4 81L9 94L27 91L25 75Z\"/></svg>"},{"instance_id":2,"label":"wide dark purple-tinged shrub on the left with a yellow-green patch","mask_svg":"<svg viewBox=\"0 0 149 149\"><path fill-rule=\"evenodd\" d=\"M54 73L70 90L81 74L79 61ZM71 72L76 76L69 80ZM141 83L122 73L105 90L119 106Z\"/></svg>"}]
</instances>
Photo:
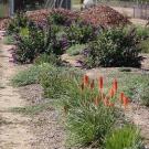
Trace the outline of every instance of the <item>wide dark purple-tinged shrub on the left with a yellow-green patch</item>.
<instances>
[{"instance_id":1,"label":"wide dark purple-tinged shrub on the left with a yellow-green patch","mask_svg":"<svg viewBox=\"0 0 149 149\"><path fill-rule=\"evenodd\" d=\"M47 31L32 24L28 29L21 30L15 35L17 49L13 51L13 58L17 63L32 63L42 53L61 55L63 42L56 39L57 26L50 25Z\"/></svg>"}]
</instances>

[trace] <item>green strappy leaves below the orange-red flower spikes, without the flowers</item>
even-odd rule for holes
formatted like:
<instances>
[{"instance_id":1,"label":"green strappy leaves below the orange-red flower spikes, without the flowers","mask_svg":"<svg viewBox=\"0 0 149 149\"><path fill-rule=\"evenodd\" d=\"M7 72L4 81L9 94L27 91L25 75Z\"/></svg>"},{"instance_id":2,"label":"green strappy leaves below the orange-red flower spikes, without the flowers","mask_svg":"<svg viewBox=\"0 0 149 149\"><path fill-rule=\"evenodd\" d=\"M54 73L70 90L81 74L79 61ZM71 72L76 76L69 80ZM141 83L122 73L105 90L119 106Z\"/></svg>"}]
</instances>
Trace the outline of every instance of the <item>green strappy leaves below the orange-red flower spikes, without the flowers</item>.
<instances>
[{"instance_id":1,"label":"green strappy leaves below the orange-red flower spikes, without the flowers","mask_svg":"<svg viewBox=\"0 0 149 149\"><path fill-rule=\"evenodd\" d=\"M73 147L97 148L116 124L118 111L103 105L71 109L66 119L67 142Z\"/></svg>"}]
</instances>

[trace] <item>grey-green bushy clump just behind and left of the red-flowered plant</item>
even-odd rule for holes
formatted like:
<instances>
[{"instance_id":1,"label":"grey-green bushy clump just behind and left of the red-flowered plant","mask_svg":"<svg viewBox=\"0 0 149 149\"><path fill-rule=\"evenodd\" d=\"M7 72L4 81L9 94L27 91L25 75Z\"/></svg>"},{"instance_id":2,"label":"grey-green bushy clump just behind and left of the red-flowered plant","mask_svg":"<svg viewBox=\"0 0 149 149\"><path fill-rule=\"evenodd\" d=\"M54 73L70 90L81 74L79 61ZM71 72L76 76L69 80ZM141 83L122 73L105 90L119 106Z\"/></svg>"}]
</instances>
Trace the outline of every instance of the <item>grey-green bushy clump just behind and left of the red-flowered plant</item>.
<instances>
[{"instance_id":1,"label":"grey-green bushy clump just behind and left of the red-flowered plant","mask_svg":"<svg viewBox=\"0 0 149 149\"><path fill-rule=\"evenodd\" d=\"M76 76L76 74L79 76L82 72L70 67L53 67L43 71L39 78L44 89L44 96L47 98L67 96L68 86L73 84L71 79Z\"/></svg>"}]
</instances>

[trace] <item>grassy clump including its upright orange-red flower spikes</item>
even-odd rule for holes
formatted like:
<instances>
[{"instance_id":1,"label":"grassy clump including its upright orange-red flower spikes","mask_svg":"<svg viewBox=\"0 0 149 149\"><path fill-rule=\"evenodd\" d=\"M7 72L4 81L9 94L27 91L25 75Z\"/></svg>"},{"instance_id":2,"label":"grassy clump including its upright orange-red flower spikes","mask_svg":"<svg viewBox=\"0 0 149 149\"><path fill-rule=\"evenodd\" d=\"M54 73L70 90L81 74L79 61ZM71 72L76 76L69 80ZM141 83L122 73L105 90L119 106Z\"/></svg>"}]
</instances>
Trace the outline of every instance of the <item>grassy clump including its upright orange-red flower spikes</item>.
<instances>
[{"instance_id":1,"label":"grassy clump including its upright orange-red flower spikes","mask_svg":"<svg viewBox=\"0 0 149 149\"><path fill-rule=\"evenodd\" d=\"M115 106L118 97L117 81L114 81L108 94L105 94L103 85L103 77L99 77L97 87L96 83L85 75L83 83L74 81L74 85L68 89L70 98L64 99L64 109L67 114L67 141L71 147L102 147L105 136L119 125L118 121L124 123L123 114ZM123 93L120 100L126 108L128 98Z\"/></svg>"}]
</instances>

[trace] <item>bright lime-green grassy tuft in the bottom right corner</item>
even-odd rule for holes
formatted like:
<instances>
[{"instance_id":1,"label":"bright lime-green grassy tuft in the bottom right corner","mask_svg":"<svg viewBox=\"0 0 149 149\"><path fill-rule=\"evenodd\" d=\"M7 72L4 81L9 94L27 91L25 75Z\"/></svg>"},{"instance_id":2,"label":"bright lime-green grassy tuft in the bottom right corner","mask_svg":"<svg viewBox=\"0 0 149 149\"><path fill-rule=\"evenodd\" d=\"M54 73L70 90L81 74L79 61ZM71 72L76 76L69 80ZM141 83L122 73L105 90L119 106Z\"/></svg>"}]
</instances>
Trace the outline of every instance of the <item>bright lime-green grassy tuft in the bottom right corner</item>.
<instances>
[{"instance_id":1,"label":"bright lime-green grassy tuft in the bottom right corner","mask_svg":"<svg viewBox=\"0 0 149 149\"><path fill-rule=\"evenodd\" d=\"M124 126L106 137L106 149L145 149L136 126Z\"/></svg>"}]
</instances>

